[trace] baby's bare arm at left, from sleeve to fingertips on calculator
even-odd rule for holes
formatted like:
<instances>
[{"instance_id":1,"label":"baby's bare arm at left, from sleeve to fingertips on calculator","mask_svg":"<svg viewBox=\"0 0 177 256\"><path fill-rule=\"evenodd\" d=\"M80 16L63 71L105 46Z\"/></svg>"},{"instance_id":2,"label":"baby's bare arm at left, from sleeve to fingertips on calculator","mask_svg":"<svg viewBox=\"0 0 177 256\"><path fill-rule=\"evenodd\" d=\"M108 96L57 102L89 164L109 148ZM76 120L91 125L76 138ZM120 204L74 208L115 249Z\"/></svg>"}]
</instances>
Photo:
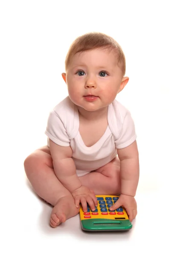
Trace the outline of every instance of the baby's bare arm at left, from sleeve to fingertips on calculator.
<instances>
[{"instance_id":1,"label":"baby's bare arm at left, from sleeve to fingertips on calculator","mask_svg":"<svg viewBox=\"0 0 177 256\"><path fill-rule=\"evenodd\" d=\"M72 159L73 151L70 146L63 147L57 145L49 139L49 147L53 160L55 175L58 180L71 192L75 199L76 207L81 201L82 207L87 211L87 202L91 209L95 209L94 204L97 204L97 199L92 191L85 186L82 186L76 174L75 163Z\"/></svg>"}]
</instances>

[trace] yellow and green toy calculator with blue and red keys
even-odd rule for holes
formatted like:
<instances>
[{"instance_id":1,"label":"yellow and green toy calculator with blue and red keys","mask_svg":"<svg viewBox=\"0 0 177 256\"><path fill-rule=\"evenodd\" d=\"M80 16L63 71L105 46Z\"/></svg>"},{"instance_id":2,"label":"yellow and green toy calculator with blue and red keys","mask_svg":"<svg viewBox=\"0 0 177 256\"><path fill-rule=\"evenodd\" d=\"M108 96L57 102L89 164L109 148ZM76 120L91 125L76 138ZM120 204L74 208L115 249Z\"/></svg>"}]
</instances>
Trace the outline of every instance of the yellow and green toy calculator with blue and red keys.
<instances>
[{"instance_id":1,"label":"yellow and green toy calculator with blue and red keys","mask_svg":"<svg viewBox=\"0 0 177 256\"><path fill-rule=\"evenodd\" d=\"M87 212L80 207L81 228L87 231L130 230L132 224L125 208L114 211L109 208L119 200L117 195L96 195L98 206L92 211L87 204Z\"/></svg>"}]
</instances>

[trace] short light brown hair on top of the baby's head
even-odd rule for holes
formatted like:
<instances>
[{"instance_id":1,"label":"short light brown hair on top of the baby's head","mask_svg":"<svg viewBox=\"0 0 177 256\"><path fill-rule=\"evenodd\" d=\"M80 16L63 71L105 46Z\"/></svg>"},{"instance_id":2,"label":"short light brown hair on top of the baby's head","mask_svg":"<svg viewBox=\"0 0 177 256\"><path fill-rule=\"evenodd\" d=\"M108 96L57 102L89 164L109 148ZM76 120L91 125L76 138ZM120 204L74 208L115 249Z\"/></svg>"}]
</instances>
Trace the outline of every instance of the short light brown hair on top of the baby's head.
<instances>
[{"instance_id":1,"label":"short light brown hair on top of the baby's head","mask_svg":"<svg viewBox=\"0 0 177 256\"><path fill-rule=\"evenodd\" d=\"M100 33L90 32L79 36L73 41L67 53L65 60L65 70L70 63L71 58L78 52L84 52L91 49L103 48L108 51L114 51L117 56L118 66L122 69L123 76L125 75L125 55L120 45L112 37Z\"/></svg>"}]
</instances>

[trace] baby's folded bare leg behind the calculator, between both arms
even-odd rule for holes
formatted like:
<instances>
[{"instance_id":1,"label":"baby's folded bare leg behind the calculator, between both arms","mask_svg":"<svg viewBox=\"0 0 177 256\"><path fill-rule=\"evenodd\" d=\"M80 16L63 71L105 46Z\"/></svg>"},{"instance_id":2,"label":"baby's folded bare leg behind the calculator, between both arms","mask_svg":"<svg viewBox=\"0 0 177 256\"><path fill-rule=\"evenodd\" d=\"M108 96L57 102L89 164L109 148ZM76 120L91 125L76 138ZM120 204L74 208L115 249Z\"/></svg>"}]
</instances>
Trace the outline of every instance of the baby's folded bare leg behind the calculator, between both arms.
<instances>
[{"instance_id":1,"label":"baby's folded bare leg behind the calculator, between both arms","mask_svg":"<svg viewBox=\"0 0 177 256\"><path fill-rule=\"evenodd\" d=\"M110 163L94 172L79 177L81 183L92 189L96 195L120 194L120 161L116 157Z\"/></svg>"}]
</instances>

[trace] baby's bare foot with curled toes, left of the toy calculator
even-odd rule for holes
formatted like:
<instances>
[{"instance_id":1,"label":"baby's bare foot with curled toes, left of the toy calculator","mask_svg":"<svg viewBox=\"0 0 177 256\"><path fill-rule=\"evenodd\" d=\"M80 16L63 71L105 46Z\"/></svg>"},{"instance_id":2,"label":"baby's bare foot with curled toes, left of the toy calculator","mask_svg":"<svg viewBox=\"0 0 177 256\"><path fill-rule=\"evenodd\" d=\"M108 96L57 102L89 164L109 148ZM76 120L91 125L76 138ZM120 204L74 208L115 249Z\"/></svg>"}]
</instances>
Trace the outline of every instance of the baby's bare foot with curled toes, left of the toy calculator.
<instances>
[{"instance_id":1,"label":"baby's bare foot with curled toes, left of the toy calculator","mask_svg":"<svg viewBox=\"0 0 177 256\"><path fill-rule=\"evenodd\" d=\"M62 222L65 222L68 218L77 215L79 208L75 207L74 198L72 195L67 195L60 198L52 209L50 215L50 226L57 227Z\"/></svg>"}]
</instances>

